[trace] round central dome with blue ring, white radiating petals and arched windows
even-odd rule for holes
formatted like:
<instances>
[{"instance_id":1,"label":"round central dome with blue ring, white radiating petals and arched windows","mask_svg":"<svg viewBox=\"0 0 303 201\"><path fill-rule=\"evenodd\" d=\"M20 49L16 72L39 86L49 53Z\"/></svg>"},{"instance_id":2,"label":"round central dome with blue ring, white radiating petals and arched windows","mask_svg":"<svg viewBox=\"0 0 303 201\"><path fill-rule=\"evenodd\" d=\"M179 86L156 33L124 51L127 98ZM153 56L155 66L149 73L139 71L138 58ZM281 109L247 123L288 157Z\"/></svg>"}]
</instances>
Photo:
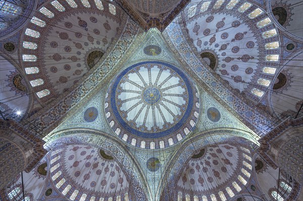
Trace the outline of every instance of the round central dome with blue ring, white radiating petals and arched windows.
<instances>
[{"instance_id":1,"label":"round central dome with blue ring, white radiating petals and arched windows","mask_svg":"<svg viewBox=\"0 0 303 201\"><path fill-rule=\"evenodd\" d=\"M117 135L123 139L125 131L127 138L133 135L146 141L173 136L177 131L182 139L197 120L192 116L193 109L197 114L199 111L196 103L199 105L196 89L180 69L169 63L145 61L119 74L110 86L105 104L111 105L106 107L106 116ZM193 123L186 126L189 117ZM180 141L176 135L175 139L170 144Z\"/></svg>"}]
</instances>

